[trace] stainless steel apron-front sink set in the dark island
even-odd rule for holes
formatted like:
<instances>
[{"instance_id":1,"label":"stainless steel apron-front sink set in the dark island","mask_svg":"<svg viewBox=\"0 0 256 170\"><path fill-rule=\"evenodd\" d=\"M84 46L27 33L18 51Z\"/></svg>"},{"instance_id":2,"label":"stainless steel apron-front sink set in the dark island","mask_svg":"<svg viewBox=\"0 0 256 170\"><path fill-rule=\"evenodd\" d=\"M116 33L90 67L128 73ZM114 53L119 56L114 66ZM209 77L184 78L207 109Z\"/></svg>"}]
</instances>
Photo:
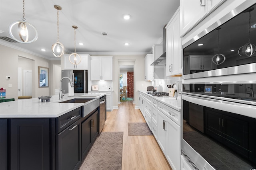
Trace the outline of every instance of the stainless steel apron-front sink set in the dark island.
<instances>
[{"instance_id":1,"label":"stainless steel apron-front sink set in the dark island","mask_svg":"<svg viewBox=\"0 0 256 170\"><path fill-rule=\"evenodd\" d=\"M74 98L70 100L65 100L59 103L84 103L84 109L82 110L82 117L86 117L89 113L91 113L94 109L100 106L100 99L86 99L86 98Z\"/></svg>"}]
</instances>

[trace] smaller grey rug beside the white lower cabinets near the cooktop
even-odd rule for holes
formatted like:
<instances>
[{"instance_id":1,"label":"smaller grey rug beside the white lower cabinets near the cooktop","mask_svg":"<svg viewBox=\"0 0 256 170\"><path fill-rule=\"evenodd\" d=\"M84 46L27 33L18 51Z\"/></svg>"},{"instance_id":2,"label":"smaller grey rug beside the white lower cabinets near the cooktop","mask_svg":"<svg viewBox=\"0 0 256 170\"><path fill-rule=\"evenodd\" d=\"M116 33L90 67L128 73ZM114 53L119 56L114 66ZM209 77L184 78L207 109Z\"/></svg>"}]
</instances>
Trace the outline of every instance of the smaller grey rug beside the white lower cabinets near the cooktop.
<instances>
[{"instance_id":1,"label":"smaller grey rug beside the white lower cabinets near the cooktop","mask_svg":"<svg viewBox=\"0 0 256 170\"><path fill-rule=\"evenodd\" d=\"M147 123L128 123L128 135L153 135Z\"/></svg>"}]
</instances>

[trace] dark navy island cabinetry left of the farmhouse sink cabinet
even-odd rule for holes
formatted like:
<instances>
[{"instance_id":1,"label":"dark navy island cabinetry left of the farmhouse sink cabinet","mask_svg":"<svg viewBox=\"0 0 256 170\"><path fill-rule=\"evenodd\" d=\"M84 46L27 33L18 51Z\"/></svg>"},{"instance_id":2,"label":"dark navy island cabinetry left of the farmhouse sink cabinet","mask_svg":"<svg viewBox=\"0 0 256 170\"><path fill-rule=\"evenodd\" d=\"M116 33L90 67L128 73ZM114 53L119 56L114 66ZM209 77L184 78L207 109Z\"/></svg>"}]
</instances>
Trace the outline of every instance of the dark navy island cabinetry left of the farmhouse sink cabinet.
<instances>
[{"instance_id":1,"label":"dark navy island cabinetry left of the farmhouse sink cabinet","mask_svg":"<svg viewBox=\"0 0 256 170\"><path fill-rule=\"evenodd\" d=\"M0 169L77 170L82 109L57 118L0 119Z\"/></svg>"}]
</instances>

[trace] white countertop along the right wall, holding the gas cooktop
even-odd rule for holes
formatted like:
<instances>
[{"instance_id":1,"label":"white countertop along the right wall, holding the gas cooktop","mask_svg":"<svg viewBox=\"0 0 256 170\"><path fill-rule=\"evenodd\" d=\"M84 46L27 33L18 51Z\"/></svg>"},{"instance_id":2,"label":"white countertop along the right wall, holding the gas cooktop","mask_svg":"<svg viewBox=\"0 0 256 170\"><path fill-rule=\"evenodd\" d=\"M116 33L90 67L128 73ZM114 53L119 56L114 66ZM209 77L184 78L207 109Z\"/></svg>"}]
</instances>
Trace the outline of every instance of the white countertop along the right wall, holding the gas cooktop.
<instances>
[{"instance_id":1,"label":"white countertop along the right wall, holding the gas cooktop","mask_svg":"<svg viewBox=\"0 0 256 170\"><path fill-rule=\"evenodd\" d=\"M144 93L146 96L149 96L158 102L161 102L162 104L165 104L169 107L172 107L173 109L177 111L181 111L181 106L177 106L177 100L174 97L169 97L169 96L152 96L151 94L147 94L145 91L140 91Z\"/></svg>"}]
</instances>

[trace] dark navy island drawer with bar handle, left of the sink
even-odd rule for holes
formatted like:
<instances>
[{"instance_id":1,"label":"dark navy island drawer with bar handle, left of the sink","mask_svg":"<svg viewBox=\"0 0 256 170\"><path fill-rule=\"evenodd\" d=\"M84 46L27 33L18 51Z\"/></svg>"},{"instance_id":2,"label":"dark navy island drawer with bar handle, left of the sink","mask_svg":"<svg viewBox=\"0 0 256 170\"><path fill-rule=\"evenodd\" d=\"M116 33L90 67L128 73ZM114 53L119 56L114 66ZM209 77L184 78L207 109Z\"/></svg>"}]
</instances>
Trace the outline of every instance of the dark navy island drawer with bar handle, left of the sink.
<instances>
[{"instance_id":1,"label":"dark navy island drawer with bar handle, left of the sink","mask_svg":"<svg viewBox=\"0 0 256 170\"><path fill-rule=\"evenodd\" d=\"M60 133L66 127L70 126L73 122L81 117L81 107L74 109L60 117L56 118L56 133Z\"/></svg>"}]
</instances>

